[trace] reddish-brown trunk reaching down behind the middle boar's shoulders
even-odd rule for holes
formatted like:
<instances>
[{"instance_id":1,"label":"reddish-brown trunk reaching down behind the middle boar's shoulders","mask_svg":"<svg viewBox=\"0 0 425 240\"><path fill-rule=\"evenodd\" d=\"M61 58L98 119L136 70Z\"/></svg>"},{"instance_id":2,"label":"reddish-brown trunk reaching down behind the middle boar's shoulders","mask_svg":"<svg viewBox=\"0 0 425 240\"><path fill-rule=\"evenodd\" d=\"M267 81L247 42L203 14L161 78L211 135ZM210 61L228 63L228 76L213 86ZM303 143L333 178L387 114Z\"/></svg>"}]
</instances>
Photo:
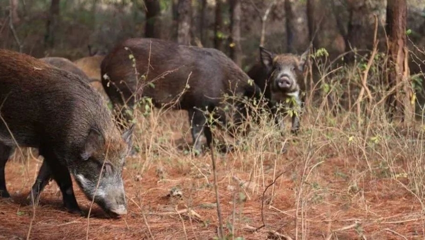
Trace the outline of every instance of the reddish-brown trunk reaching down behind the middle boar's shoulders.
<instances>
[{"instance_id":1,"label":"reddish-brown trunk reaching down behind the middle boar's shoulders","mask_svg":"<svg viewBox=\"0 0 425 240\"><path fill-rule=\"evenodd\" d=\"M230 0L230 58L240 67L242 66L242 47L240 45L240 0Z\"/></svg>"}]
</instances>

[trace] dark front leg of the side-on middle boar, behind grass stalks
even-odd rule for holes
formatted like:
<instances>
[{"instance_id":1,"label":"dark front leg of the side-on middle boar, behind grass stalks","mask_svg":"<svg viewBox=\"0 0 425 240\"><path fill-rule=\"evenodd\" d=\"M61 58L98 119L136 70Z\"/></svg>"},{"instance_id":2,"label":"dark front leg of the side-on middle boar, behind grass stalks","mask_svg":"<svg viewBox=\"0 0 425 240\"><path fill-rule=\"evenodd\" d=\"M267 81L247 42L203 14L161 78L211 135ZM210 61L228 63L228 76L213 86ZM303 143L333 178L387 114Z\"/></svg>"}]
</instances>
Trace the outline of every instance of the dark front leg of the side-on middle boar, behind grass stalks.
<instances>
[{"instance_id":1,"label":"dark front leg of the side-on middle boar, behind grass stalks","mask_svg":"<svg viewBox=\"0 0 425 240\"><path fill-rule=\"evenodd\" d=\"M207 119L205 118L204 113L200 110L189 110L189 121L191 122L193 150L197 153L201 153L203 137L207 139L208 145L210 145L212 141L211 129L207 126Z\"/></svg>"}]
</instances>

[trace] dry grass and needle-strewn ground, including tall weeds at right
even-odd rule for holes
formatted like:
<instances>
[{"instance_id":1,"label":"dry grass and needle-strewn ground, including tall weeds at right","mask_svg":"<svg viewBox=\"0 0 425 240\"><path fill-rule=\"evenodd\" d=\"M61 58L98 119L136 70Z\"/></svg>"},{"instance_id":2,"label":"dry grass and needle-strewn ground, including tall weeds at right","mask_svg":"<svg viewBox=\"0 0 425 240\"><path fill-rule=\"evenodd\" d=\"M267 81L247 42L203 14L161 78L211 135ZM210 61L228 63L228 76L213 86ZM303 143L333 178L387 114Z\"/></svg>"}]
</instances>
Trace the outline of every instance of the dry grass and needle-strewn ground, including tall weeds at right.
<instances>
[{"instance_id":1,"label":"dry grass and needle-strewn ground, including tall weeds at right","mask_svg":"<svg viewBox=\"0 0 425 240\"><path fill-rule=\"evenodd\" d=\"M386 120L380 101L387 92L372 85L382 77L379 60L366 76L373 99L360 101L360 126L348 99L357 99L364 69L359 63L331 70L321 58L314 64L325 67L319 68L315 94L308 95L299 135L282 137L266 114L244 137L214 130L217 139L235 145L226 154L215 149L228 239L425 238L424 124ZM6 166L12 200L0 200L0 239L26 238L33 217L31 239L216 238L211 153L194 157L188 151L185 112L142 109L135 133L140 153L127 159L124 170L129 214L106 219L93 206L87 231L87 218L64 212L60 191L51 183L34 216L25 197L40 162L15 159ZM171 190L180 190L181 197L170 197ZM90 202L75 191L87 212Z\"/></svg>"}]
</instances>

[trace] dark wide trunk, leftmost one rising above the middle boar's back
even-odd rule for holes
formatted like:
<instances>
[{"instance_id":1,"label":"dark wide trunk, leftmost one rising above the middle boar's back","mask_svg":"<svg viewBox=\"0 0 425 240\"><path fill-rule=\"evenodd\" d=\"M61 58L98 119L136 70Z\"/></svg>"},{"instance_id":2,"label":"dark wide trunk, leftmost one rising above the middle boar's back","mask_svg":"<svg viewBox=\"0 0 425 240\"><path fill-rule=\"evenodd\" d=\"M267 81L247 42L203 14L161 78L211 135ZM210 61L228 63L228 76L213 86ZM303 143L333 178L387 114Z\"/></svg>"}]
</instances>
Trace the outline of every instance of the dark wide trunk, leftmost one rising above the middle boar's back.
<instances>
[{"instance_id":1,"label":"dark wide trunk, leftmost one rising above the middle boar's back","mask_svg":"<svg viewBox=\"0 0 425 240\"><path fill-rule=\"evenodd\" d=\"M161 7L159 0L145 0L146 6L146 38L160 38L160 27L158 27Z\"/></svg>"}]
</instances>

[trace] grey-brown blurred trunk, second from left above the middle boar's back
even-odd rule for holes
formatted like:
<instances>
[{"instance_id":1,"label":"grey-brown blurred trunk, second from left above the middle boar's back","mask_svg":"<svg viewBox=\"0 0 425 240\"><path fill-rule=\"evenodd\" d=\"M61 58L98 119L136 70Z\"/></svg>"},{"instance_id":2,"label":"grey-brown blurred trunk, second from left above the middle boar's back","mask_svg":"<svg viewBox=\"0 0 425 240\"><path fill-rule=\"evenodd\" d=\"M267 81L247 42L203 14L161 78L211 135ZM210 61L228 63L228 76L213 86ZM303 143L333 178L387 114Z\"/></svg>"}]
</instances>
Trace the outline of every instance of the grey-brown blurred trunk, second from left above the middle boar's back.
<instances>
[{"instance_id":1,"label":"grey-brown blurred trunk, second from left above the middle boar's back","mask_svg":"<svg viewBox=\"0 0 425 240\"><path fill-rule=\"evenodd\" d=\"M189 45L191 43L191 0L179 0L177 4L177 42Z\"/></svg>"}]
</instances>

